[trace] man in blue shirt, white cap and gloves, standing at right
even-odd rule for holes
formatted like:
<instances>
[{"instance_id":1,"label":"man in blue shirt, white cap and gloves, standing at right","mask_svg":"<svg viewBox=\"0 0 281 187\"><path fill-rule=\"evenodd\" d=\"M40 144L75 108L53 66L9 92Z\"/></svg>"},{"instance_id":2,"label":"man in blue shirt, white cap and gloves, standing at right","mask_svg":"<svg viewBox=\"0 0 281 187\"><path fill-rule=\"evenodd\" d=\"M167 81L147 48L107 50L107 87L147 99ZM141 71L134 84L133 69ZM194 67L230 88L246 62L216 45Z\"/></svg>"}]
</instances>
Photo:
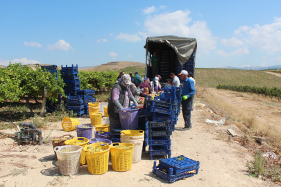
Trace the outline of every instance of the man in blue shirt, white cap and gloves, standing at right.
<instances>
[{"instance_id":1,"label":"man in blue shirt, white cap and gloves, standing at right","mask_svg":"<svg viewBox=\"0 0 281 187\"><path fill-rule=\"evenodd\" d=\"M183 80L182 98L182 116L185 121L185 127L182 130L191 130L191 110L193 106L193 96L196 93L194 81L188 78L188 73L185 70L180 72L180 78Z\"/></svg>"}]
</instances>

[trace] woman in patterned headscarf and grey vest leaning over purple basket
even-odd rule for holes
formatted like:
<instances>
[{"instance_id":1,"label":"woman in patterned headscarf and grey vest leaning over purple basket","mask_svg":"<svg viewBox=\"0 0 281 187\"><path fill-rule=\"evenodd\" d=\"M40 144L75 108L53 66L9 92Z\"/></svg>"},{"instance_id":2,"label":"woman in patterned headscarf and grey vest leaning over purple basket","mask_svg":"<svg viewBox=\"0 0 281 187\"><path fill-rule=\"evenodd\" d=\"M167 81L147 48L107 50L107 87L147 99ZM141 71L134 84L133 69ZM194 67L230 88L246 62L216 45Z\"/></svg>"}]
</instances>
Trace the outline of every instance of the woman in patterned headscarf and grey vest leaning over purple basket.
<instances>
[{"instance_id":1,"label":"woman in patterned headscarf and grey vest leaning over purple basket","mask_svg":"<svg viewBox=\"0 0 281 187\"><path fill-rule=\"evenodd\" d=\"M110 94L110 102L108 103L108 116L110 118L110 129L113 127L121 128L118 109L130 107L130 101L133 100L136 107L139 107L130 91L130 75L122 75L113 85Z\"/></svg>"}]
</instances>

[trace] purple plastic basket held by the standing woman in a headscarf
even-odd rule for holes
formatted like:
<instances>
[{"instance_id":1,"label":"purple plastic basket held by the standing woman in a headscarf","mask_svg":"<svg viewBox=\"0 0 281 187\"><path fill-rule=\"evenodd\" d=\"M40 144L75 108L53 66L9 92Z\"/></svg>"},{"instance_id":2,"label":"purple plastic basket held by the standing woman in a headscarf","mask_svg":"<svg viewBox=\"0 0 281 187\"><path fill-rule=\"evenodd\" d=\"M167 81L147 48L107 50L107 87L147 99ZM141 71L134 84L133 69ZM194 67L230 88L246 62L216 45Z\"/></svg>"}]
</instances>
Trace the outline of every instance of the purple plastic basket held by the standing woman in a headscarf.
<instances>
[{"instance_id":1,"label":"purple plastic basket held by the standing woman in a headscarf","mask_svg":"<svg viewBox=\"0 0 281 187\"><path fill-rule=\"evenodd\" d=\"M126 110L126 112L122 112ZM121 127L124 130L134 130L139 127L139 109L119 109L119 117L121 122Z\"/></svg>"}]
</instances>

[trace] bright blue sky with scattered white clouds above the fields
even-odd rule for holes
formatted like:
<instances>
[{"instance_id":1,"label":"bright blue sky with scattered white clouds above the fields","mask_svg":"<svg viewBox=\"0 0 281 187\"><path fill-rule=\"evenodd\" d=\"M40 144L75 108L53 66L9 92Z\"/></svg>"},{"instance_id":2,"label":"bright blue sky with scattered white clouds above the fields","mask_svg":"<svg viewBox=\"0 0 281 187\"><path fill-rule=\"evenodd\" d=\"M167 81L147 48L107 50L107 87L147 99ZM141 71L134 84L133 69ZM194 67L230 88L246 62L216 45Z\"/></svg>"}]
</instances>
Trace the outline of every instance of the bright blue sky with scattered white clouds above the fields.
<instances>
[{"instance_id":1,"label":"bright blue sky with scattered white clouds above the fields","mask_svg":"<svg viewBox=\"0 0 281 187\"><path fill-rule=\"evenodd\" d=\"M148 36L195 37L196 67L281 64L281 1L0 0L0 64L145 62Z\"/></svg>"}]
</instances>

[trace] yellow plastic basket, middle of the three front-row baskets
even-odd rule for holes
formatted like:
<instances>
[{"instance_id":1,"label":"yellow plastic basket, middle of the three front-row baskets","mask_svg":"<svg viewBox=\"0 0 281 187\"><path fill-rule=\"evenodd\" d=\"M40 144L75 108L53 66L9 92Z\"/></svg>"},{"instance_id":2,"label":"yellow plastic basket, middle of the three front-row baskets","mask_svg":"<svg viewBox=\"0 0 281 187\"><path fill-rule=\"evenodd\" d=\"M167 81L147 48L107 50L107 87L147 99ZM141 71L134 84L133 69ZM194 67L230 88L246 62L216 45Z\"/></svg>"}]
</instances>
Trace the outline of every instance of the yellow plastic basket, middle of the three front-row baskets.
<instances>
[{"instance_id":1,"label":"yellow plastic basket, middle of the three front-row baskets","mask_svg":"<svg viewBox=\"0 0 281 187\"><path fill-rule=\"evenodd\" d=\"M108 143L93 143L91 145L105 150L103 152L90 152L87 150L87 146L83 148L86 152L88 171L94 175L101 175L108 171L110 145Z\"/></svg>"}]
</instances>

